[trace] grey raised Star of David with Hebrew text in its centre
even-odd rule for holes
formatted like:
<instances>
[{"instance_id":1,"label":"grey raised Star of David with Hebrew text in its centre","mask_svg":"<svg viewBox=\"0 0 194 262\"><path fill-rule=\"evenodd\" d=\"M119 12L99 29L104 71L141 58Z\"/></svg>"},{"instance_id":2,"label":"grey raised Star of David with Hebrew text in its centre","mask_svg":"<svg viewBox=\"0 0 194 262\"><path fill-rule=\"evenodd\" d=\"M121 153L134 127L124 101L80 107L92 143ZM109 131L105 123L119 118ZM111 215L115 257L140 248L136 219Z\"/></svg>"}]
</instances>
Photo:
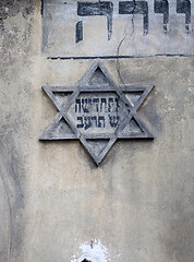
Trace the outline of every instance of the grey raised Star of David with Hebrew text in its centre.
<instances>
[{"instance_id":1,"label":"grey raised Star of David with Hebrew text in its centre","mask_svg":"<svg viewBox=\"0 0 194 262\"><path fill-rule=\"evenodd\" d=\"M154 86L119 86L97 61L74 87L43 86L58 109L40 140L80 140L99 165L117 139L154 139L137 114Z\"/></svg>"}]
</instances>

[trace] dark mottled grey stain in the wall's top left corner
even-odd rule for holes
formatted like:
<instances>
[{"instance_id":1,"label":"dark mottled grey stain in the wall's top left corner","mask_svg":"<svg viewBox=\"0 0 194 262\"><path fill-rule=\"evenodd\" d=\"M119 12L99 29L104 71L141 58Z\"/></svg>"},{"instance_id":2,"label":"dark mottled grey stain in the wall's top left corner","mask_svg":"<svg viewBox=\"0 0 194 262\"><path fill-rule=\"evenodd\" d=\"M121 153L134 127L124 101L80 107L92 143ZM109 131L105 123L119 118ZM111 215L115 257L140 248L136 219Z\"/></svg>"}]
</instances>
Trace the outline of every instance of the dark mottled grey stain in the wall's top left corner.
<instances>
[{"instance_id":1,"label":"dark mottled grey stain in the wall's top left corner","mask_svg":"<svg viewBox=\"0 0 194 262\"><path fill-rule=\"evenodd\" d=\"M5 66L10 66L10 60L14 60L14 57L19 53L29 51L29 35L32 33L35 2L38 4L38 1L33 0L0 1L0 34L2 37L0 59L3 60L4 64L1 68L2 74L5 74ZM12 20L16 15L20 19Z\"/></svg>"}]
</instances>

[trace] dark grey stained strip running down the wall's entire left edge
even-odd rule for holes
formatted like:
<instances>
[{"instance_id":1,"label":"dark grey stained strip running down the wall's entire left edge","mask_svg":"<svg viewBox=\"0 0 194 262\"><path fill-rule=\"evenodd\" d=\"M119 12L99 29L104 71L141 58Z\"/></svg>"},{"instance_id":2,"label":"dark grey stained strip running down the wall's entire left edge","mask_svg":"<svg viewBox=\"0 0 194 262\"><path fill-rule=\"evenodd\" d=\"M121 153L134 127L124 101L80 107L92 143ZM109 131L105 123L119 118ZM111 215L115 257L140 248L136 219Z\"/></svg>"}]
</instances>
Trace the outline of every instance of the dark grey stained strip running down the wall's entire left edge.
<instances>
[{"instance_id":1,"label":"dark grey stained strip running down the wall's entire left edge","mask_svg":"<svg viewBox=\"0 0 194 262\"><path fill-rule=\"evenodd\" d=\"M33 0L0 1L0 211L4 211L0 214L0 262L21 261L22 254L27 157L22 146L28 136L27 103L32 94L29 80L21 72L31 66L25 53L31 49L34 5ZM16 15L20 19L13 20Z\"/></svg>"}]
</instances>

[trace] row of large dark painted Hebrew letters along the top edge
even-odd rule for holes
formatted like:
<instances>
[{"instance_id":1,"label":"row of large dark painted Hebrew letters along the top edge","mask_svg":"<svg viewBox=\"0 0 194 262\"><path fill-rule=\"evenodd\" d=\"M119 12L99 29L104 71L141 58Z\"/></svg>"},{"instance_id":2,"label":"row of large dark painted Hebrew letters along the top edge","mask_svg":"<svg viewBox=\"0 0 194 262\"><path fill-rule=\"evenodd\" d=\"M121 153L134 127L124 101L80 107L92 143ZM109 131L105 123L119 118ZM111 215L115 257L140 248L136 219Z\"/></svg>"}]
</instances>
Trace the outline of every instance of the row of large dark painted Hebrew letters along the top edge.
<instances>
[{"instance_id":1,"label":"row of large dark painted Hebrew letters along the top edge","mask_svg":"<svg viewBox=\"0 0 194 262\"><path fill-rule=\"evenodd\" d=\"M163 14L163 31L168 33L169 23L169 2L168 0L154 0L154 11L158 14ZM77 2L77 15L93 16L105 15L107 16L108 40L112 35L112 2ZM185 31L191 33L191 1L177 0L177 13L185 14ZM147 1L120 1L119 14L142 14L143 15L143 32L148 34L148 3ZM83 21L76 23L76 43L83 40Z\"/></svg>"}]
</instances>

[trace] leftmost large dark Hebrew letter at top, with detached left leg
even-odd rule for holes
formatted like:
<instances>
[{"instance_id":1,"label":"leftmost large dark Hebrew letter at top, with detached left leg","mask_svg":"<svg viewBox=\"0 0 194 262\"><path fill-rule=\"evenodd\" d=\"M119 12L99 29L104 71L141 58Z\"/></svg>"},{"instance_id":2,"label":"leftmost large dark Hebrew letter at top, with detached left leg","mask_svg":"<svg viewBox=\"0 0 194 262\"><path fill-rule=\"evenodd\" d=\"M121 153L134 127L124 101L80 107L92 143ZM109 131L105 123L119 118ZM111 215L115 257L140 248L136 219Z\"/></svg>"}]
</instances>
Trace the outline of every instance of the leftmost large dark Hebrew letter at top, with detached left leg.
<instances>
[{"instance_id":1,"label":"leftmost large dark Hebrew letter at top, with detached left leg","mask_svg":"<svg viewBox=\"0 0 194 262\"><path fill-rule=\"evenodd\" d=\"M107 29L108 40L112 35L112 2L77 2L77 15L80 16L93 16L105 15L107 16ZM76 43L83 40L83 22L80 21L76 24Z\"/></svg>"}]
</instances>

